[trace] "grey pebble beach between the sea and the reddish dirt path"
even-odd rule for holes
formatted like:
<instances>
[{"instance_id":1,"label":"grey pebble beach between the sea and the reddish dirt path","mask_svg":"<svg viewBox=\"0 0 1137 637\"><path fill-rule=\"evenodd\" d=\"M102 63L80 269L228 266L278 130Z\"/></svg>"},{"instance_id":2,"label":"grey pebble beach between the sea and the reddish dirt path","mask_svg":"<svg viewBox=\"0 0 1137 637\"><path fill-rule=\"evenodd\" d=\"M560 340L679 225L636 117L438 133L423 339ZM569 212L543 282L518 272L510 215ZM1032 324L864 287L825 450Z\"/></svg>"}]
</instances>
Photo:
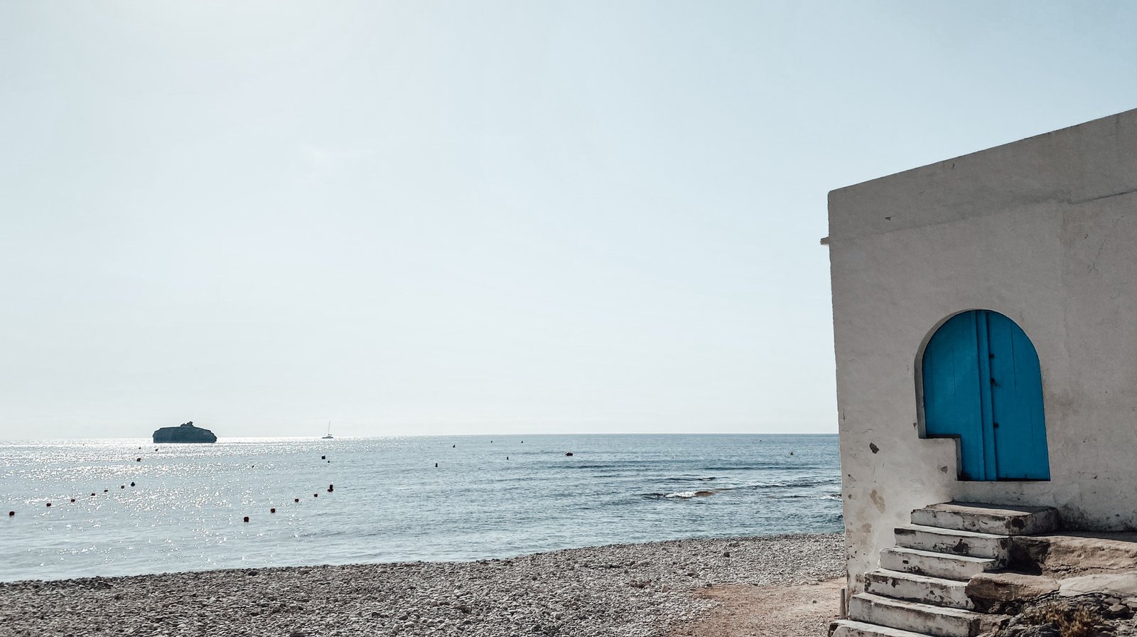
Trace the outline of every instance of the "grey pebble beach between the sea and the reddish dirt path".
<instances>
[{"instance_id":1,"label":"grey pebble beach between the sea and the reddish dirt path","mask_svg":"<svg viewBox=\"0 0 1137 637\"><path fill-rule=\"evenodd\" d=\"M686 539L512 560L224 570L0 584L3 636L658 637L716 584L844 573L839 535Z\"/></svg>"}]
</instances>

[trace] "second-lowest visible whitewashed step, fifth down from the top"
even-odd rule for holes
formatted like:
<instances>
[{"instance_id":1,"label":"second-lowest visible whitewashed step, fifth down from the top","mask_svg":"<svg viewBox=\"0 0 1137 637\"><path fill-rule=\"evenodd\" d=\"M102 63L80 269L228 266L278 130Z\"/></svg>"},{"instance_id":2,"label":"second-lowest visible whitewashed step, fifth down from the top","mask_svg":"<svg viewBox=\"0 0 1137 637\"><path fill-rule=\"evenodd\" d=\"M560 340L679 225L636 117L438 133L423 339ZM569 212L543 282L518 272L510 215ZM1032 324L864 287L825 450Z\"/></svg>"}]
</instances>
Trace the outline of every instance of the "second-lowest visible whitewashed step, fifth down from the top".
<instances>
[{"instance_id":1,"label":"second-lowest visible whitewashed step, fifth down from the top","mask_svg":"<svg viewBox=\"0 0 1137 637\"><path fill-rule=\"evenodd\" d=\"M857 593L849 599L849 619L933 637L976 637L1001 615L985 615L960 609L947 609L893 599L871 593Z\"/></svg>"}]
</instances>

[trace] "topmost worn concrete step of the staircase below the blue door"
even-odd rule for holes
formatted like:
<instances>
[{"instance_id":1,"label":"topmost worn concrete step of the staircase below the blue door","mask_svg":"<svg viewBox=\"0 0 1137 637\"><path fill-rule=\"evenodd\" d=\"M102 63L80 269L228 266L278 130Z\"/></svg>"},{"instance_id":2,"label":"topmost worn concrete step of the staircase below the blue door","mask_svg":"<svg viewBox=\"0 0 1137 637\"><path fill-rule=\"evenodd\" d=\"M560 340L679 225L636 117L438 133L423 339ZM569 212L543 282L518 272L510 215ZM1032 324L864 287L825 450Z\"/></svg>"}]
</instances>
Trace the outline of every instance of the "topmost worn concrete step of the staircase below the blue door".
<instances>
[{"instance_id":1,"label":"topmost worn concrete step of the staircase below the blue door","mask_svg":"<svg viewBox=\"0 0 1137 637\"><path fill-rule=\"evenodd\" d=\"M1059 512L1049 506L945 502L913 511L912 523L998 536L1035 536L1056 529Z\"/></svg>"}]
</instances>

